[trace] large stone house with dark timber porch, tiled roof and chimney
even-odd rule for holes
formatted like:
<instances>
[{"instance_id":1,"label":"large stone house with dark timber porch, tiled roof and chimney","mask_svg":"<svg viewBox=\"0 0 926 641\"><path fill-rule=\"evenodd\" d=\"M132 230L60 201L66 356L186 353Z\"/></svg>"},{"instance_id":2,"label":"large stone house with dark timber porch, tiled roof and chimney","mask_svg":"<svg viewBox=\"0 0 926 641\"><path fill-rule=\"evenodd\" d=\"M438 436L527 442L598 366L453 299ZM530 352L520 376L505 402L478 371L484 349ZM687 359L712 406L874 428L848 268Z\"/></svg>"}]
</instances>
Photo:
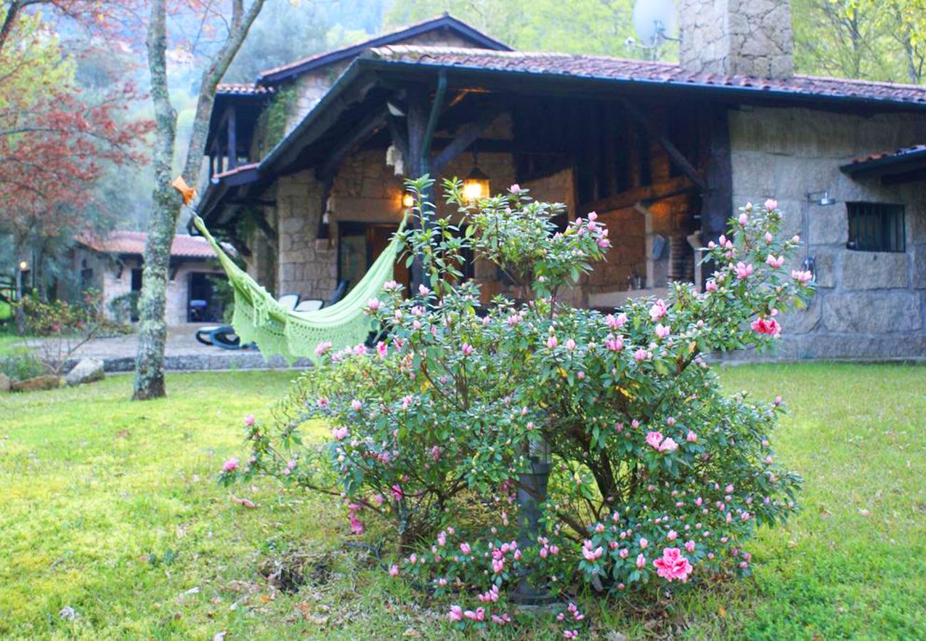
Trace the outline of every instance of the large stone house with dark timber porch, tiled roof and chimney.
<instances>
[{"instance_id":1,"label":"large stone house with dark timber porch, tiled roof and chimney","mask_svg":"<svg viewBox=\"0 0 926 641\"><path fill-rule=\"evenodd\" d=\"M385 245L404 177L478 169L607 222L570 296L613 308L703 283L697 248L775 197L819 288L777 356L926 357L926 88L795 74L787 2L683 0L680 24L672 64L512 51L445 15L222 85L199 212L277 294L325 298Z\"/></svg>"}]
</instances>

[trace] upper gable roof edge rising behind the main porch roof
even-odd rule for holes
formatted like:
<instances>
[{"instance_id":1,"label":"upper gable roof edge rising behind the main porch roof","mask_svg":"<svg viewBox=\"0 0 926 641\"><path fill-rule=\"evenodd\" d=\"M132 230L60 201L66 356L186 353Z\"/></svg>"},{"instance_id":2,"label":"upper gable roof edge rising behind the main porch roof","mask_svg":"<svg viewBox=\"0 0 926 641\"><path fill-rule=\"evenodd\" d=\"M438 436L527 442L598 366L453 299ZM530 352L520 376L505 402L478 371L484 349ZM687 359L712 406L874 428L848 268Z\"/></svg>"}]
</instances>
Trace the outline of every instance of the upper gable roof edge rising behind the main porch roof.
<instances>
[{"instance_id":1,"label":"upper gable roof edge rising behind the main porch roof","mask_svg":"<svg viewBox=\"0 0 926 641\"><path fill-rule=\"evenodd\" d=\"M497 40L494 40L494 38L490 38L489 36L482 33L482 31L473 29L467 23L462 22L461 20L458 20L449 14L444 14L443 16L439 16L437 18L422 20L415 24L405 25L394 31L387 31L374 38L369 38L355 44L348 44L347 46L344 46L340 49L314 54L309 57L294 60L293 62L287 63L280 67L261 71L257 76L257 83L275 82L279 80L281 76L300 73L307 71L308 69L321 67L323 65L331 64L332 62L344 60L349 57L355 57L370 47L392 44L405 38L414 37L423 32L441 28L449 28L457 31L460 34L469 37L471 40L479 42L483 46L493 47L493 49L507 50L510 48L507 46L507 44L500 43Z\"/></svg>"}]
</instances>

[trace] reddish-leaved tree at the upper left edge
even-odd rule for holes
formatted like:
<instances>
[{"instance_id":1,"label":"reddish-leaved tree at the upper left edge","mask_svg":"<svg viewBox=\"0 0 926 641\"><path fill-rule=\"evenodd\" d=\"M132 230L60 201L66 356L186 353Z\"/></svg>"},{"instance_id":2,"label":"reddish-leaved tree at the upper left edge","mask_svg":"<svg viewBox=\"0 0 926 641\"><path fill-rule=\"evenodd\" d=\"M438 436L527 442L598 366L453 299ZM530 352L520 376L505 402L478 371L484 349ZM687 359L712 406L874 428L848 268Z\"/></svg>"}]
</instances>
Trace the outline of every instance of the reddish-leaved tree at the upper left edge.
<instances>
[{"instance_id":1,"label":"reddish-leaved tree at the upper left edge","mask_svg":"<svg viewBox=\"0 0 926 641\"><path fill-rule=\"evenodd\" d=\"M49 12L34 10L40 5ZM96 31L106 17L85 25L78 5L0 5L0 236L7 262L29 255L37 283L56 275L53 263L76 231L101 220L101 180L143 158L150 129L131 114L138 97L131 82L109 77L98 91L81 87L81 56L59 37L65 25L56 11L71 10L68 28Z\"/></svg>"}]
</instances>

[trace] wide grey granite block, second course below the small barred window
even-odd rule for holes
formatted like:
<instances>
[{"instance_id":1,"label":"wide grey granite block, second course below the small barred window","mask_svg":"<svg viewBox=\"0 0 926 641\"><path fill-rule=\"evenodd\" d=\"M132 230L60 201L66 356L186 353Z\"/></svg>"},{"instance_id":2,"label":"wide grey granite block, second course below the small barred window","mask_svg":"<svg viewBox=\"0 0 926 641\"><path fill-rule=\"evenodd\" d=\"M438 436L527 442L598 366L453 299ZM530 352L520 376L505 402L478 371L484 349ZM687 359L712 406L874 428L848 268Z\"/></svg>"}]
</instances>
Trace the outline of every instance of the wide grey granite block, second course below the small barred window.
<instances>
[{"instance_id":1,"label":"wide grey granite block, second course below the small barred window","mask_svg":"<svg viewBox=\"0 0 926 641\"><path fill-rule=\"evenodd\" d=\"M839 333L915 332L922 327L920 300L906 291L826 295L823 325Z\"/></svg>"}]
</instances>

